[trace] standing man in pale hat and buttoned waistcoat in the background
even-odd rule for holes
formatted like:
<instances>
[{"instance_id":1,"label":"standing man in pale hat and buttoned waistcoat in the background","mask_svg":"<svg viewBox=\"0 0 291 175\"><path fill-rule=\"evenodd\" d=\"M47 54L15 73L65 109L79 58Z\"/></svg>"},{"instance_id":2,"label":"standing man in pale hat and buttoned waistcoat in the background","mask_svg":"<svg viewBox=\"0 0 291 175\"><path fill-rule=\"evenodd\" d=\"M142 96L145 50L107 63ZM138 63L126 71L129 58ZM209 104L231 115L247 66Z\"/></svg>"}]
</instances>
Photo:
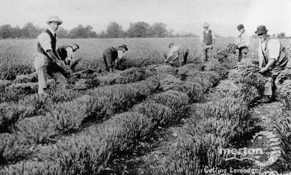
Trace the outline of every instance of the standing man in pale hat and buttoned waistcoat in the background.
<instances>
[{"instance_id":1,"label":"standing man in pale hat and buttoned waistcoat in the background","mask_svg":"<svg viewBox=\"0 0 291 175\"><path fill-rule=\"evenodd\" d=\"M200 41L202 44L202 59L207 61L207 52L208 49L212 49L215 43L216 37L213 30L209 29L209 24L203 24L204 31L200 34Z\"/></svg>"}]
</instances>

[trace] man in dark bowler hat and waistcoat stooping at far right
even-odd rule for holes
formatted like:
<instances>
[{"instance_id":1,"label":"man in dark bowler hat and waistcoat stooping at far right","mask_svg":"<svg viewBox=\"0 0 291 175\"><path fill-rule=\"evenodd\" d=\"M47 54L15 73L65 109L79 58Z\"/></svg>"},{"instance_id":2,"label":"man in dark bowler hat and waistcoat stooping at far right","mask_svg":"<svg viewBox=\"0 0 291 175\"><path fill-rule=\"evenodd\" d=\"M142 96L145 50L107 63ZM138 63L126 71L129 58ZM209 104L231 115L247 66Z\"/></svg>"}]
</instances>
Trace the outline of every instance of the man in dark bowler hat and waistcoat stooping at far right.
<instances>
[{"instance_id":1,"label":"man in dark bowler hat and waistcoat stooping at far right","mask_svg":"<svg viewBox=\"0 0 291 175\"><path fill-rule=\"evenodd\" d=\"M278 38L268 35L267 31L266 26L258 26L257 31L255 31L259 37L258 52L261 68L259 73L271 72L271 77L266 79L264 97L257 100L259 103L268 103L274 99L275 80L288 62L287 50L283 43Z\"/></svg>"}]
</instances>

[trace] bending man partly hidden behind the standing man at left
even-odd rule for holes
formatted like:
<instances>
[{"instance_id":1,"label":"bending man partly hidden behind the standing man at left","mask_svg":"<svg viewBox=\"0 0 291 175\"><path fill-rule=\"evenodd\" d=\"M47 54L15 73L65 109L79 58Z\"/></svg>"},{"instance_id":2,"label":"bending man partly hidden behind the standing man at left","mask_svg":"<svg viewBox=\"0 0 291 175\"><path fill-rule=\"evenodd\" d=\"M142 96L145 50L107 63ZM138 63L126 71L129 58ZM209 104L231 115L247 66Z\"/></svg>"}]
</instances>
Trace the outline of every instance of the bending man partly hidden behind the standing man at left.
<instances>
[{"instance_id":1,"label":"bending man partly hidden behind the standing man at left","mask_svg":"<svg viewBox=\"0 0 291 175\"><path fill-rule=\"evenodd\" d=\"M70 64L72 62L72 54L73 52L77 51L79 49L78 44L72 44L70 46L62 46L57 49L58 55L61 57L61 60L64 61L66 65L70 67Z\"/></svg>"}]
</instances>

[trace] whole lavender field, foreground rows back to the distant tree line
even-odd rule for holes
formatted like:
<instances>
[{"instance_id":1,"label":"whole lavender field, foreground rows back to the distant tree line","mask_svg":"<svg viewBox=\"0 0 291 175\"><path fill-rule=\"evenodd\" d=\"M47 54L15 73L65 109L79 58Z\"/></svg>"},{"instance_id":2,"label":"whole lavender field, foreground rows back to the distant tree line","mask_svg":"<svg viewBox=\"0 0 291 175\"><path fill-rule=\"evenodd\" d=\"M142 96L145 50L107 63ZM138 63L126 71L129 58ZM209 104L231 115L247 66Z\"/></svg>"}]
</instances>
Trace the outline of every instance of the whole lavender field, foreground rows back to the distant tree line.
<instances>
[{"instance_id":1,"label":"whole lavender field, foreground rows back to the distant tree line","mask_svg":"<svg viewBox=\"0 0 291 175\"><path fill-rule=\"evenodd\" d=\"M190 64L157 65L163 63L171 42L189 47ZM226 147L252 129L249 109L265 83L264 76L254 72L258 42L251 39L248 61L239 64L237 53L227 47L233 42L234 38L219 37L210 61L203 64L198 37L59 39L58 46L80 46L75 56L82 60L74 72L104 69L102 51L126 44L124 70L83 73L75 85L86 88L72 89L74 84L65 91L51 88L47 98L39 99L36 80L14 80L34 71L36 40L0 40L0 174L104 173L115 156L132 152L157 127L182 118L189 118L187 132L192 137L181 140L171 164L154 174L203 174L205 165L227 166L217 147ZM282 85L290 82L290 68L280 77ZM200 104L214 87L215 98ZM284 157L290 160L290 88L283 86L283 90L278 96L286 117L278 127Z\"/></svg>"}]
</instances>

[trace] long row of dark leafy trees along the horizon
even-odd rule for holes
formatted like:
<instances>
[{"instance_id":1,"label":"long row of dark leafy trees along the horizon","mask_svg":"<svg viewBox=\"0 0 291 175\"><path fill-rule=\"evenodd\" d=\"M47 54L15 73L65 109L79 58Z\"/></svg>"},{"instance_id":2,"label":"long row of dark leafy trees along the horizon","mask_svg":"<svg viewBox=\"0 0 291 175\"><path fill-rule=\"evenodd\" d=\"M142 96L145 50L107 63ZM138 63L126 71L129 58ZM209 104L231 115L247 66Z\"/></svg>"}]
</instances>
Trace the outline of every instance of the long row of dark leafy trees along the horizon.
<instances>
[{"instance_id":1,"label":"long row of dark leafy trees along the horizon","mask_svg":"<svg viewBox=\"0 0 291 175\"><path fill-rule=\"evenodd\" d=\"M9 24L0 26L0 38L36 38L46 28L34 26L29 22L23 28L19 26L12 27ZM173 34L173 30L167 30L164 23L155 23L149 25L145 22L130 23L127 30L116 22L110 22L106 31L99 33L92 31L93 27L88 25L84 27L79 24L72 30L66 30L59 27L57 31L58 38L141 38L141 37L194 37L192 33Z\"/></svg>"}]
</instances>

